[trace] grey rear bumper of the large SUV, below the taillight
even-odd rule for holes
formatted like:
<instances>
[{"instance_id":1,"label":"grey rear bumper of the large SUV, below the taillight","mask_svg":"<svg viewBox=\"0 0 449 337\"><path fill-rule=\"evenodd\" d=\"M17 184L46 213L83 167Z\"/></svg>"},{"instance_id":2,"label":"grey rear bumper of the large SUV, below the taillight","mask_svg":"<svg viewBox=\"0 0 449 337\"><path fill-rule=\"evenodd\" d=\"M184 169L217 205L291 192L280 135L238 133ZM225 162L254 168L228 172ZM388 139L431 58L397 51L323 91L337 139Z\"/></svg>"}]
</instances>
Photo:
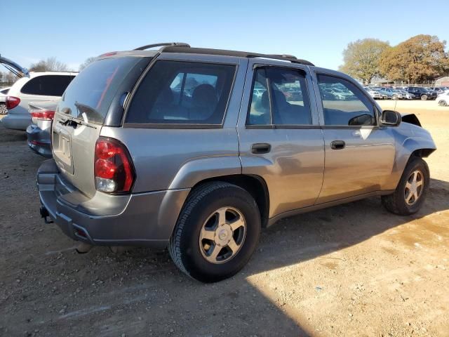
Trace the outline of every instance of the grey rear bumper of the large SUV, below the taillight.
<instances>
[{"instance_id":1,"label":"grey rear bumper of the large SUV, below the taillight","mask_svg":"<svg viewBox=\"0 0 449 337\"><path fill-rule=\"evenodd\" d=\"M102 246L165 248L189 190L88 198L67 185L53 159L37 173L43 213L68 237Z\"/></svg>"}]
</instances>

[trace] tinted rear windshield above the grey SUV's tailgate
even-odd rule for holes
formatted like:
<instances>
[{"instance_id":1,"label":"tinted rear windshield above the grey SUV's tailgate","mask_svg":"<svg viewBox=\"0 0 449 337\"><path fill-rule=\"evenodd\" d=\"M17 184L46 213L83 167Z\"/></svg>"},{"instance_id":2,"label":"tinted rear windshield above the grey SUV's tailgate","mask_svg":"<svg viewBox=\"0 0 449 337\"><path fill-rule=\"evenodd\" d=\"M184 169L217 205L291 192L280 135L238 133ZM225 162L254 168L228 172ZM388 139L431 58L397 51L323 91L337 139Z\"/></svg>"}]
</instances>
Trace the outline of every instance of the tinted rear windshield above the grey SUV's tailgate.
<instances>
[{"instance_id":1,"label":"tinted rear windshield above the grey SUV's tailgate","mask_svg":"<svg viewBox=\"0 0 449 337\"><path fill-rule=\"evenodd\" d=\"M133 57L92 62L67 87L58 111L65 110L76 119L102 124L121 81L138 62L139 58Z\"/></svg>"}]
</instances>

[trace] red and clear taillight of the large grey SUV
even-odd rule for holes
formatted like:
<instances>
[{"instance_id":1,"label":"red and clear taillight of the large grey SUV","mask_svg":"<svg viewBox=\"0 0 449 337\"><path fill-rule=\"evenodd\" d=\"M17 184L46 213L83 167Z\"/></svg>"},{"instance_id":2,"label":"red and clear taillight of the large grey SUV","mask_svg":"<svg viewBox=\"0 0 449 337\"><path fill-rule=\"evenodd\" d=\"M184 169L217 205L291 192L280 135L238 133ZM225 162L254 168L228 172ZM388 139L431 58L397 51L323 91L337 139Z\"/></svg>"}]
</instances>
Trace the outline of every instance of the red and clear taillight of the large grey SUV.
<instances>
[{"instance_id":1,"label":"red and clear taillight of the large grey SUV","mask_svg":"<svg viewBox=\"0 0 449 337\"><path fill-rule=\"evenodd\" d=\"M125 145L100 137L95 144L95 188L105 193L130 192L135 180L133 163Z\"/></svg>"}]
</instances>

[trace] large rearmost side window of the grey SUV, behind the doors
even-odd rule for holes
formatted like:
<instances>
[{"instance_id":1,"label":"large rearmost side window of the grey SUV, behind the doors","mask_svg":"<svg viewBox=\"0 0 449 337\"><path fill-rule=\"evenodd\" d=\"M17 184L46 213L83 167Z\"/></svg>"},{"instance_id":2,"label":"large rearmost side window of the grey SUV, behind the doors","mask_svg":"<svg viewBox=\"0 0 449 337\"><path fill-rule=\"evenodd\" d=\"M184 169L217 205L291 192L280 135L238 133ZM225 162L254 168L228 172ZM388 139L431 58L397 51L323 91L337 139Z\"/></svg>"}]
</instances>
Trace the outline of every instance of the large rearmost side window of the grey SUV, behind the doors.
<instances>
[{"instance_id":1,"label":"large rearmost side window of the grey SUV, behind the doors","mask_svg":"<svg viewBox=\"0 0 449 337\"><path fill-rule=\"evenodd\" d=\"M222 124L235 67L157 61L130 103L127 123Z\"/></svg>"}]
</instances>

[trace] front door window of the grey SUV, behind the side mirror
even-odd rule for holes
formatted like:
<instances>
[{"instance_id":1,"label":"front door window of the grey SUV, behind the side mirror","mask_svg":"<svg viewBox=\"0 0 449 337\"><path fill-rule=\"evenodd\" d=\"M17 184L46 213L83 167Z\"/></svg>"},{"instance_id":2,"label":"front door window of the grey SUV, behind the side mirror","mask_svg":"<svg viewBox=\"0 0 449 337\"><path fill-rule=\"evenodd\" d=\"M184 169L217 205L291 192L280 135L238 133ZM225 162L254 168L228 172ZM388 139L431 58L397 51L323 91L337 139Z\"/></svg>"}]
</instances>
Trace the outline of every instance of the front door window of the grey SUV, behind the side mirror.
<instances>
[{"instance_id":1,"label":"front door window of the grey SUV, behind the side mirror","mask_svg":"<svg viewBox=\"0 0 449 337\"><path fill-rule=\"evenodd\" d=\"M326 125L375 125L375 110L370 100L351 82L318 75Z\"/></svg>"}]
</instances>

